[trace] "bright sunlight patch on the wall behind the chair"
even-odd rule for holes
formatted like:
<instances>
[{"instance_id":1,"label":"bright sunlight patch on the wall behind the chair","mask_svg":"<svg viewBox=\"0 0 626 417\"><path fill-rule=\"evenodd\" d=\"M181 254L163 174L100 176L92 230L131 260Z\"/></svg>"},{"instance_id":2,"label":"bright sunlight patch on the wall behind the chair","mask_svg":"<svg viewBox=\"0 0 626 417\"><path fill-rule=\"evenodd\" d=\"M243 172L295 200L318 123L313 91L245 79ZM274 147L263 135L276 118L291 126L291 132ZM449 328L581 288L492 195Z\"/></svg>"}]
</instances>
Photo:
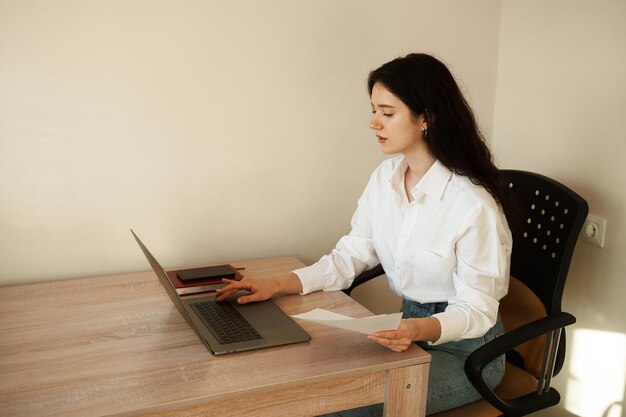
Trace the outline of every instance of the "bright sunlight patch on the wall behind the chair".
<instances>
[{"instance_id":1,"label":"bright sunlight patch on the wall behind the chair","mask_svg":"<svg viewBox=\"0 0 626 417\"><path fill-rule=\"evenodd\" d=\"M585 417L620 417L626 380L626 335L589 329L573 332L565 408Z\"/></svg>"}]
</instances>

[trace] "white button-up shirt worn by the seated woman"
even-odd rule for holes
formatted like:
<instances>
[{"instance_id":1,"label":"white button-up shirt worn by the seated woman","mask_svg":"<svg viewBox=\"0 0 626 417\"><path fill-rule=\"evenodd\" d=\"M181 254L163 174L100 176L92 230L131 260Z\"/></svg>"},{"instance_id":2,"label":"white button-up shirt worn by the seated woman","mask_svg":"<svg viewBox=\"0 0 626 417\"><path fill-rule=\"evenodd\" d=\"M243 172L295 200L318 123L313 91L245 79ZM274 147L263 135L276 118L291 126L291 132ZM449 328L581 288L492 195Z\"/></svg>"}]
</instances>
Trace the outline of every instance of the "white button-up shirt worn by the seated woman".
<instances>
[{"instance_id":1,"label":"white button-up shirt worn by the seated woman","mask_svg":"<svg viewBox=\"0 0 626 417\"><path fill-rule=\"evenodd\" d=\"M404 156L372 174L351 232L329 255L294 271L303 294L348 288L381 263L391 289L420 303L448 302L435 314L435 344L484 335L507 293L512 239L494 198L469 178L435 162L413 189L404 188Z\"/></svg>"}]
</instances>

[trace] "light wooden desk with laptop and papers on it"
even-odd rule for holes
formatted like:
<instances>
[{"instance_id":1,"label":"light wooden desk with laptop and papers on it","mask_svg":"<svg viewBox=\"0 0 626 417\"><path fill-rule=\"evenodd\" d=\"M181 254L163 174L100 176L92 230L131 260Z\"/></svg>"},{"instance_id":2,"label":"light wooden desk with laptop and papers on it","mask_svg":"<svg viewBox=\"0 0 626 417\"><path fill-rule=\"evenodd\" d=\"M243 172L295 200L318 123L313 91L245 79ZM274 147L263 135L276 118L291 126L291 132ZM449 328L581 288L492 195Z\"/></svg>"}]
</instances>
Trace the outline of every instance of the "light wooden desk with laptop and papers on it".
<instances>
[{"instance_id":1,"label":"light wooden desk with laptop and papers on it","mask_svg":"<svg viewBox=\"0 0 626 417\"><path fill-rule=\"evenodd\" d=\"M302 263L233 265L263 278ZM369 314L342 292L276 302ZM423 350L301 324L310 342L216 357L153 272L0 288L0 416L311 416L383 400L387 416L424 415Z\"/></svg>"}]
</instances>

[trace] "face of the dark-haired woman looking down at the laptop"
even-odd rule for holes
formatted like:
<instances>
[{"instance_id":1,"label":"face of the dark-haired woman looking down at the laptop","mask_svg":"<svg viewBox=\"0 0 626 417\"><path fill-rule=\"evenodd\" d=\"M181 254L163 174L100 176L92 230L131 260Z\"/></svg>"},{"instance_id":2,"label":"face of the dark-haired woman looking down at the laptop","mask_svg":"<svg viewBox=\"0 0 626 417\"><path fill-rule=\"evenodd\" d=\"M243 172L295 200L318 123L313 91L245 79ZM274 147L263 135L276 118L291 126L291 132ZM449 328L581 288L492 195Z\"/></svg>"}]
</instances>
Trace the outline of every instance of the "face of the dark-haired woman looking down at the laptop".
<instances>
[{"instance_id":1,"label":"face of the dark-haired woman looking down at the laptop","mask_svg":"<svg viewBox=\"0 0 626 417\"><path fill-rule=\"evenodd\" d=\"M369 126L376 133L382 153L408 155L422 149L424 115L413 117L406 104L380 83L372 88L372 112Z\"/></svg>"}]
</instances>

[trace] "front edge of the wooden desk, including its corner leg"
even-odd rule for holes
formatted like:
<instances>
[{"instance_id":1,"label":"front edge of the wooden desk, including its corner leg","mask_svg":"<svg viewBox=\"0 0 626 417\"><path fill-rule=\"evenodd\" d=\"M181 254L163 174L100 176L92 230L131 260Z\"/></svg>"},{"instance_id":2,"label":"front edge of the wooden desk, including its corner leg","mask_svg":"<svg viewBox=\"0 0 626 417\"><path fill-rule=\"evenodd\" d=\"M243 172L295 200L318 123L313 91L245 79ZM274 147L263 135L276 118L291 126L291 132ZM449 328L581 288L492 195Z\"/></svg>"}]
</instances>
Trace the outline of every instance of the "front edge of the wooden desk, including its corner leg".
<instances>
[{"instance_id":1,"label":"front edge of the wooden desk, including its corner leg","mask_svg":"<svg viewBox=\"0 0 626 417\"><path fill-rule=\"evenodd\" d=\"M363 372L336 378L311 379L287 386L259 387L252 392L231 393L135 410L115 417L275 417L317 416L333 411L384 403L386 417L424 415L428 365L416 364ZM365 387L365 390L364 390ZM417 405L417 406L416 406Z\"/></svg>"}]
</instances>

